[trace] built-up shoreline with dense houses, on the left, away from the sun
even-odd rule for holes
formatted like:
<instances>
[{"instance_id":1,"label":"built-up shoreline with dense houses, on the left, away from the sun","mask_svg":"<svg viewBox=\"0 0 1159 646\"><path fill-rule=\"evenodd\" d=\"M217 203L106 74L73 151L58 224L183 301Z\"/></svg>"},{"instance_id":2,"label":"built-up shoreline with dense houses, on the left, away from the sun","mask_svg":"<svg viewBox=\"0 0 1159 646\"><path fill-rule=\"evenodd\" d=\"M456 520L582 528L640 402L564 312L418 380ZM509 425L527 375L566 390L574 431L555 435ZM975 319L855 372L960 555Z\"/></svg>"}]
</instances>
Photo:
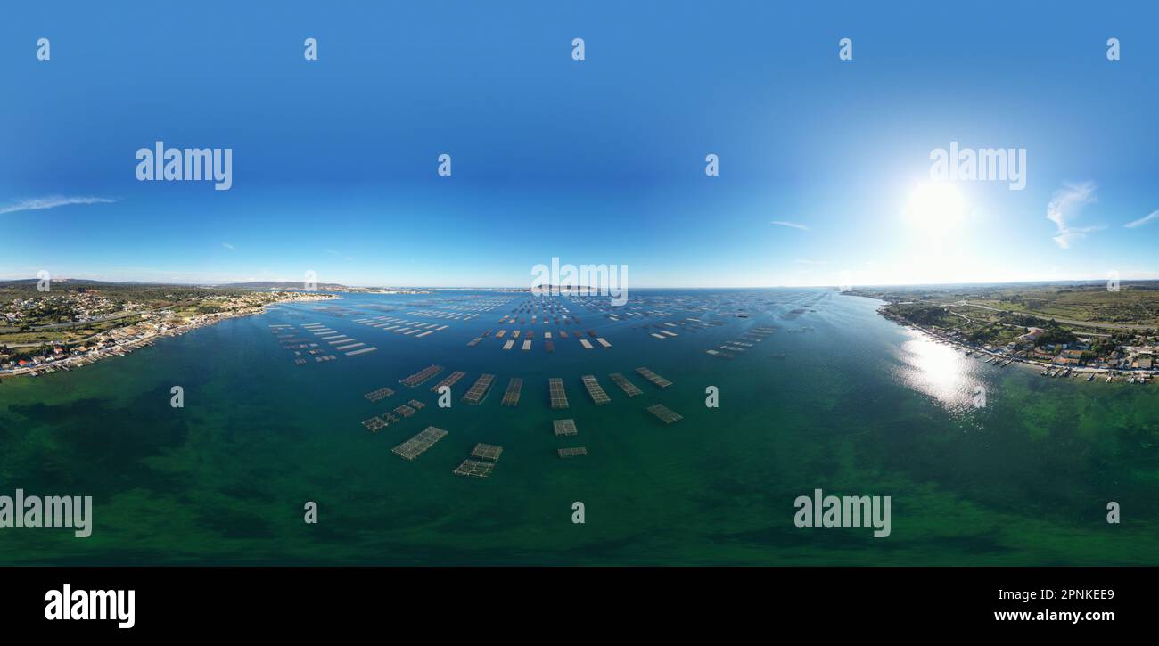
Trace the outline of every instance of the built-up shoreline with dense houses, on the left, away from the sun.
<instances>
[{"instance_id":1,"label":"built-up shoreline with dense houses, on the left, away from the sun","mask_svg":"<svg viewBox=\"0 0 1159 646\"><path fill-rule=\"evenodd\" d=\"M292 285L292 284L286 284ZM41 288L48 287L46 291ZM0 282L0 379L71 370L289 301L338 299L285 287L119 284L92 280Z\"/></svg>"}]
</instances>

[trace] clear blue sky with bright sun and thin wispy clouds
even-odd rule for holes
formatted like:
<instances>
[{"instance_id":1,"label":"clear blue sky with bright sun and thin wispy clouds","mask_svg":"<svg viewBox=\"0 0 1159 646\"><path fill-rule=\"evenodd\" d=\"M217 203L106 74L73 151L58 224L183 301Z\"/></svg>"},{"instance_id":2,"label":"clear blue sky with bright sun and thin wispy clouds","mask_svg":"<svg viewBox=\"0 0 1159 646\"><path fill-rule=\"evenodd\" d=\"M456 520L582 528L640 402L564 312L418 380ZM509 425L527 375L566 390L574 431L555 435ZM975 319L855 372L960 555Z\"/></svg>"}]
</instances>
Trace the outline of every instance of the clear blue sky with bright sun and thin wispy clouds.
<instances>
[{"instance_id":1,"label":"clear blue sky with bright sun and thin wispy clouds","mask_svg":"<svg viewBox=\"0 0 1159 646\"><path fill-rule=\"evenodd\" d=\"M20 3L0 277L526 286L552 257L637 287L1159 277L1159 216L1124 226L1159 210L1153 3L716 5ZM233 188L137 181L156 140L232 148ZM950 141L1025 148L1026 189L958 182L957 216L916 219Z\"/></svg>"}]
</instances>

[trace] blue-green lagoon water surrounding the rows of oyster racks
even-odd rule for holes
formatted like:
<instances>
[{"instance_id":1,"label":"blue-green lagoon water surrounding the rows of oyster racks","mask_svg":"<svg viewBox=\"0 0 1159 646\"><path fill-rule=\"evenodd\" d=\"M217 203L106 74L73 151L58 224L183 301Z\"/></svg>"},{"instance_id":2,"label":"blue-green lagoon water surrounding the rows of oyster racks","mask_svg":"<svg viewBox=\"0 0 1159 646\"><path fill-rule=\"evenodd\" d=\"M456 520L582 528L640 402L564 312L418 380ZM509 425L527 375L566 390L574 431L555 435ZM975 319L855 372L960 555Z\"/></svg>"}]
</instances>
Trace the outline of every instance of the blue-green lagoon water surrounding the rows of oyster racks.
<instances>
[{"instance_id":1,"label":"blue-green lagoon water surrounding the rows of oyster racks","mask_svg":"<svg viewBox=\"0 0 1159 646\"><path fill-rule=\"evenodd\" d=\"M482 295L512 302L469 322L408 315L469 306L454 300L466 295L279 306L72 373L6 380L0 494L93 495L94 529L0 529L0 563L1159 564L1154 386L984 366L833 292L634 293L635 311L724 322L665 340L640 329L656 316L615 322L567 303L583 323L537 324L532 352L494 337L466 345L488 328L510 338L517 326L497 321L522 295ZM321 309L335 304L344 316ZM373 316L449 328L416 339L353 322ZM312 338L312 322L379 350L297 366L270 325ZM735 359L705 353L765 325L779 331ZM541 332L559 329L595 329L613 347L556 338L544 352ZM430 364L446 370L399 383ZM637 366L675 384L659 390ZM439 409L430 387L451 370L467 376ZM483 372L497 375L489 396L462 403ZM628 398L613 372L643 395ZM583 374L612 402L592 404ZM512 376L525 380L513 409L501 405ZM552 376L567 411L548 406ZM978 384L984 408L971 404ZM169 405L173 386L183 409ZM387 386L396 394L379 403L362 396ZM705 405L708 386L719 409ZM409 398L428 405L377 434L359 424ZM653 403L684 419L665 426L644 411ZM577 436L552 433L564 417ZM391 453L428 425L450 434L414 462ZM504 447L493 475L452 475L476 442ZM567 446L589 455L561 460ZM891 535L796 528L794 499L818 487L890 495ZM316 524L302 521L307 500ZM1111 500L1120 524L1106 522Z\"/></svg>"}]
</instances>

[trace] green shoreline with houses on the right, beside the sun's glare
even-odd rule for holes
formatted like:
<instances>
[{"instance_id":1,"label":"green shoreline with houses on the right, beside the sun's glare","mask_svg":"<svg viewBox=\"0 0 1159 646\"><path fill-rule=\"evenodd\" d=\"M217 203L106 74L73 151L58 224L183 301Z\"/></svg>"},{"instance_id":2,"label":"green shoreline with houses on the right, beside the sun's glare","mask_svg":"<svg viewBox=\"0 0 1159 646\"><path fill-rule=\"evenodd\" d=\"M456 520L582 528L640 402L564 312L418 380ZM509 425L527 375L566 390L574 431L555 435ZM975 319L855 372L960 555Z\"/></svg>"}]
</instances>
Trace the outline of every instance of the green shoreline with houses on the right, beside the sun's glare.
<instances>
[{"instance_id":1,"label":"green shoreline with houses on the right, beside the sun's glare","mask_svg":"<svg viewBox=\"0 0 1159 646\"><path fill-rule=\"evenodd\" d=\"M1157 376L1159 281L867 287L882 316L996 366L1048 377L1147 383Z\"/></svg>"}]
</instances>

